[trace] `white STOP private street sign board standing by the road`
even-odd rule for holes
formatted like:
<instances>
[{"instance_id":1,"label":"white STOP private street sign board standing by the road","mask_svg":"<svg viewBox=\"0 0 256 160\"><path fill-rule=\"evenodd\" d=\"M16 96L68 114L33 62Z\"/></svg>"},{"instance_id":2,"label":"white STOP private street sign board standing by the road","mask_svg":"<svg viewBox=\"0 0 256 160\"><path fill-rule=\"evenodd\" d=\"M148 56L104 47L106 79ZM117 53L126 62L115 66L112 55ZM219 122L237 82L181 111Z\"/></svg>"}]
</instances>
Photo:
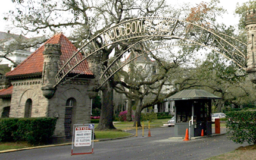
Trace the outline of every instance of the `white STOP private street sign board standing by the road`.
<instances>
[{"instance_id":1,"label":"white STOP private street sign board standing by the road","mask_svg":"<svg viewBox=\"0 0 256 160\"><path fill-rule=\"evenodd\" d=\"M92 130L89 127L76 127L74 133L74 146L90 146L92 145Z\"/></svg>"}]
</instances>

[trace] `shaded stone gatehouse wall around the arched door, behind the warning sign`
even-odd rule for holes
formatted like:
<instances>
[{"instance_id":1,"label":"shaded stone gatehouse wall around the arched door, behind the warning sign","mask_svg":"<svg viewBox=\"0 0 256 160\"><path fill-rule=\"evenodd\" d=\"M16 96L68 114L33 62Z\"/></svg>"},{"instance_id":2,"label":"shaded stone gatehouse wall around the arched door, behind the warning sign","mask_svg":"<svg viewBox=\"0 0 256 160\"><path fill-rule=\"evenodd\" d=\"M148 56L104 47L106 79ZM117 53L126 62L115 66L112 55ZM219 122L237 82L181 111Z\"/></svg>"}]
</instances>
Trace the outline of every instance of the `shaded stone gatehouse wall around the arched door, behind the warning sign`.
<instances>
[{"instance_id":1,"label":"shaded stone gatehouse wall around the arched door, behind the warning sign","mask_svg":"<svg viewBox=\"0 0 256 160\"><path fill-rule=\"evenodd\" d=\"M58 117L54 132L55 136L65 136L65 108L69 98L76 100L72 107L71 130L73 124L90 123L91 101L87 93L89 87L89 84L60 84L57 87L54 96L49 99L48 112L48 117Z\"/></svg>"}]
</instances>

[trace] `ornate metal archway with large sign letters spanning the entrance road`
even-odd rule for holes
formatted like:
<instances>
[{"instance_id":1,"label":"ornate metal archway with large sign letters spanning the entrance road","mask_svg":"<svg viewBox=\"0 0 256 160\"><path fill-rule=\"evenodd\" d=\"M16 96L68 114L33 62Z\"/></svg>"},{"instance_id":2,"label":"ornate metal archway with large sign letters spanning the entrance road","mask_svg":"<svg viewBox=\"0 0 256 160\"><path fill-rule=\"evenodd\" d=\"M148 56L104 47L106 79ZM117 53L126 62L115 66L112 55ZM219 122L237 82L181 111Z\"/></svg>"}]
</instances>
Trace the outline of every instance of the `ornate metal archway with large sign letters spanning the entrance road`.
<instances>
[{"instance_id":1,"label":"ornate metal archway with large sign letters spanning the entrance road","mask_svg":"<svg viewBox=\"0 0 256 160\"><path fill-rule=\"evenodd\" d=\"M160 43L155 45L154 42ZM126 44L128 47L125 51L111 58L111 62L107 68L102 68L101 76L98 78L99 87L130 62L118 65L116 63L117 59L138 45L142 47L143 54L170 46L199 45L224 55L224 57L235 62L244 70L246 65L247 45L233 37L221 33L214 33L210 28L207 29L188 21L166 17L142 17L123 21L99 33L93 39L88 40L61 67L55 76L57 82L55 86L60 84L67 74L82 61L85 61L85 59L88 59L114 43ZM98 44L101 44L101 46ZM82 59L78 58L79 52L82 52L85 57ZM108 74L106 74L107 71Z\"/></svg>"}]
</instances>

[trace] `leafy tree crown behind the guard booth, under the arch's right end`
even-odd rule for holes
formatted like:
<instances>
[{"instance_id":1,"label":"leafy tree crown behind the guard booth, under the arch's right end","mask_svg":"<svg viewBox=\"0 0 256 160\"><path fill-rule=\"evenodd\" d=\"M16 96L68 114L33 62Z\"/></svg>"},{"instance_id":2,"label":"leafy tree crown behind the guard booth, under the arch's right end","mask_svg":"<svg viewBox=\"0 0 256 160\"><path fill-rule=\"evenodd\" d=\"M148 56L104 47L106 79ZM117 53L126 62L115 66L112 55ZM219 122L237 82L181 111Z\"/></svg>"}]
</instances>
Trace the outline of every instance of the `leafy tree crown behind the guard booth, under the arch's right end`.
<instances>
[{"instance_id":1,"label":"leafy tree crown behind the guard booth, under the arch's right end","mask_svg":"<svg viewBox=\"0 0 256 160\"><path fill-rule=\"evenodd\" d=\"M256 100L255 84L246 79L245 71L226 58L211 53L196 70L201 88L221 97L217 108L213 108L216 112L221 112L224 105L247 105Z\"/></svg>"}]
</instances>

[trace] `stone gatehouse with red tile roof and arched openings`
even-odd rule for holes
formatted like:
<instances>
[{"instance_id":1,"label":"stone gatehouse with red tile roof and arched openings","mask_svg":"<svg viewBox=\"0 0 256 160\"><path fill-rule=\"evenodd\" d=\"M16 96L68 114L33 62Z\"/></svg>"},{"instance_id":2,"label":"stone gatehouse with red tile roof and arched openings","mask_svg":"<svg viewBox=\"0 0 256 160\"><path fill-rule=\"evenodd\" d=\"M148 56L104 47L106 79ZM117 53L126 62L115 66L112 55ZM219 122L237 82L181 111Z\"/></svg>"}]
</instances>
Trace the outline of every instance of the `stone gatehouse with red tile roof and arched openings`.
<instances>
[{"instance_id":1,"label":"stone gatehouse with red tile roof and arched openings","mask_svg":"<svg viewBox=\"0 0 256 160\"><path fill-rule=\"evenodd\" d=\"M55 34L13 71L5 74L11 84L2 83L2 117L56 117L54 136L70 137L73 124L90 123L88 90L94 76L83 61L70 74L78 75L57 87L56 72L77 49L62 33ZM83 55L80 55L83 58Z\"/></svg>"}]
</instances>

